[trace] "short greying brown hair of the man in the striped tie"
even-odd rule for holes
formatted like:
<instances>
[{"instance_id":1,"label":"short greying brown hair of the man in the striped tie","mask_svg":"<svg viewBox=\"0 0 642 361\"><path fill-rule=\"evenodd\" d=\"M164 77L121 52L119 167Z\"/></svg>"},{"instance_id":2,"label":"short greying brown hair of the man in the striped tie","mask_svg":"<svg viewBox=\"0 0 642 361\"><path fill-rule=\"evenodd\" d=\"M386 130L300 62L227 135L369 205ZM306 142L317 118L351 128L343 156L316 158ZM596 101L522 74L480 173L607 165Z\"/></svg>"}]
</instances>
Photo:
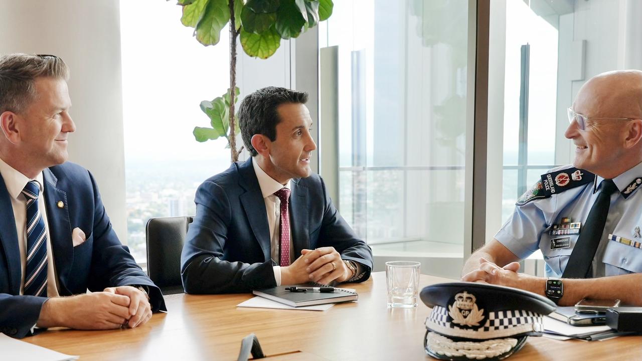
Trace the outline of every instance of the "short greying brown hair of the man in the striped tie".
<instances>
[{"instance_id":1,"label":"short greying brown hair of the man in the striped tie","mask_svg":"<svg viewBox=\"0 0 642 361\"><path fill-rule=\"evenodd\" d=\"M9 54L0 57L0 114L23 112L36 100L37 78L69 79L69 67L55 55Z\"/></svg>"}]
</instances>

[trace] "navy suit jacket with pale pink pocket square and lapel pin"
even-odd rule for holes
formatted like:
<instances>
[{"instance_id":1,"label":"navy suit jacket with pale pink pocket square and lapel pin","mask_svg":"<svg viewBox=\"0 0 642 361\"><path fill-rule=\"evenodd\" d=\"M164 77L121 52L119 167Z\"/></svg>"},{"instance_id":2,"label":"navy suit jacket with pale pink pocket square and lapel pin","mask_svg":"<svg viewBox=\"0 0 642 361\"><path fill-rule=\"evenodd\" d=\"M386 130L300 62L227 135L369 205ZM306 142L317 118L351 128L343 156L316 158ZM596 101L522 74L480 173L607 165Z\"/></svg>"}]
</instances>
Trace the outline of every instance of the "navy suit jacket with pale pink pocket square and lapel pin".
<instances>
[{"instance_id":1,"label":"navy suit jacket with pale pink pocket square and lapel pin","mask_svg":"<svg viewBox=\"0 0 642 361\"><path fill-rule=\"evenodd\" d=\"M91 173L73 163L43 171L44 197L51 249L61 296L102 291L107 287L144 285L153 310L166 310L152 280L136 264L109 222ZM64 207L56 206L58 201ZM0 331L12 337L30 335L47 297L20 294L22 266L10 195L0 176ZM86 240L73 247L72 229Z\"/></svg>"}]
</instances>

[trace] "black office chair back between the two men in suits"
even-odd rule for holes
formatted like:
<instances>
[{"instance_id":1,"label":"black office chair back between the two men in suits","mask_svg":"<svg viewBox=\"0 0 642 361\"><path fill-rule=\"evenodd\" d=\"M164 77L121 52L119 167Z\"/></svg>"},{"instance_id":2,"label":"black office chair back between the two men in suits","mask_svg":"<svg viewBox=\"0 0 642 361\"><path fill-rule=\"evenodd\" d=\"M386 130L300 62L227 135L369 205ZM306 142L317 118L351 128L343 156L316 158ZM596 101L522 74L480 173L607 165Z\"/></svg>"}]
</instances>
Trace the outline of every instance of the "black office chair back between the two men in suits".
<instances>
[{"instance_id":1,"label":"black office chair back between the two men in suits","mask_svg":"<svg viewBox=\"0 0 642 361\"><path fill-rule=\"evenodd\" d=\"M150 218L146 226L147 273L164 295L180 294L180 252L192 216Z\"/></svg>"}]
</instances>

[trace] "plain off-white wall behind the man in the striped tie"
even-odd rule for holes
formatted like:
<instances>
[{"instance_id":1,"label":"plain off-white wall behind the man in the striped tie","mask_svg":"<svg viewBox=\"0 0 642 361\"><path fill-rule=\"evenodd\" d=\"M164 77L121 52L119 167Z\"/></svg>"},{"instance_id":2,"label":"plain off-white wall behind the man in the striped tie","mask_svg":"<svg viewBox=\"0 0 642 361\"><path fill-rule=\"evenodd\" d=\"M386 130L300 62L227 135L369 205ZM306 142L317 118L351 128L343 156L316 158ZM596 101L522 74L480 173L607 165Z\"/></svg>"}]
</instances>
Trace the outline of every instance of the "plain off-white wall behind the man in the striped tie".
<instances>
[{"instance_id":1,"label":"plain off-white wall behind the man in the striped tie","mask_svg":"<svg viewBox=\"0 0 642 361\"><path fill-rule=\"evenodd\" d=\"M0 2L0 54L53 54L69 65L71 116L77 128L69 140L69 160L94 174L107 214L125 243L120 51L117 1Z\"/></svg>"}]
</instances>

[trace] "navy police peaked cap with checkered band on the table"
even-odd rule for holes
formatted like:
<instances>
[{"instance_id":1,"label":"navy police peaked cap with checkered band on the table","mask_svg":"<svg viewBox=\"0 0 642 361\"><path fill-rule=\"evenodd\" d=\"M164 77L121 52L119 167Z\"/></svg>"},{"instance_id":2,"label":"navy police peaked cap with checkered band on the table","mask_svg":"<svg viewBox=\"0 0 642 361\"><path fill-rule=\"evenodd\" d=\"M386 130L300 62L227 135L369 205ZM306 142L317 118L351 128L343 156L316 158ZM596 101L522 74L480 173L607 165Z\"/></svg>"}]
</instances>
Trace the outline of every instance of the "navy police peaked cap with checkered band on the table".
<instances>
[{"instance_id":1,"label":"navy police peaked cap with checkered band on the table","mask_svg":"<svg viewBox=\"0 0 642 361\"><path fill-rule=\"evenodd\" d=\"M474 282L438 283L421 291L433 310L426 319L426 353L440 360L501 360L528 336L541 336L555 304L517 288Z\"/></svg>"}]
</instances>

